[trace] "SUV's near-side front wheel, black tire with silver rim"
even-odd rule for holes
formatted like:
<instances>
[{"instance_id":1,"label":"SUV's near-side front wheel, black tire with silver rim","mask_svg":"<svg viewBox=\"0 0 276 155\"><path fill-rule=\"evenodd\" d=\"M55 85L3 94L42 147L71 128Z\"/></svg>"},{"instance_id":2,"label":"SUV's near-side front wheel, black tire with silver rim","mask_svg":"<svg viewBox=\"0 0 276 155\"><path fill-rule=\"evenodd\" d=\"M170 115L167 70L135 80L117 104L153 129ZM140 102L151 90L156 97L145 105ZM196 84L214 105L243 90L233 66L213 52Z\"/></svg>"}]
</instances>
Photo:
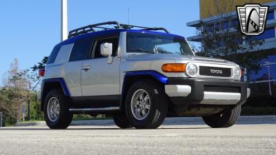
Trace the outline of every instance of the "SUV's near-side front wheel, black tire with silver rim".
<instances>
[{"instance_id":1,"label":"SUV's near-side front wheel, black tire with silver rim","mask_svg":"<svg viewBox=\"0 0 276 155\"><path fill-rule=\"evenodd\" d=\"M126 116L133 127L155 129L163 123L167 111L168 98L162 85L151 80L142 80L131 85L126 96Z\"/></svg>"}]
</instances>

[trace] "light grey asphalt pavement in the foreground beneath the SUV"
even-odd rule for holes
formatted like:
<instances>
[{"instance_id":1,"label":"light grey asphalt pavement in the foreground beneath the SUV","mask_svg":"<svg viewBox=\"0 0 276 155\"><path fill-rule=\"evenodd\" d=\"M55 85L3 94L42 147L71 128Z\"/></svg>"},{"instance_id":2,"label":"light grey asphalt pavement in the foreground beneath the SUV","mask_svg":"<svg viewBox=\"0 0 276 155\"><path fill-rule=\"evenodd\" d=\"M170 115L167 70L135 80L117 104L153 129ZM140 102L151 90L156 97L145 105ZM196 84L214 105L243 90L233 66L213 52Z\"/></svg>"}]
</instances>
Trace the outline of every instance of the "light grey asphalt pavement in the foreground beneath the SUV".
<instances>
[{"instance_id":1,"label":"light grey asphalt pavement in the foreground beneath the SUV","mask_svg":"<svg viewBox=\"0 0 276 155\"><path fill-rule=\"evenodd\" d=\"M276 124L161 125L121 130L115 125L0 128L0 154L276 154Z\"/></svg>"}]
</instances>

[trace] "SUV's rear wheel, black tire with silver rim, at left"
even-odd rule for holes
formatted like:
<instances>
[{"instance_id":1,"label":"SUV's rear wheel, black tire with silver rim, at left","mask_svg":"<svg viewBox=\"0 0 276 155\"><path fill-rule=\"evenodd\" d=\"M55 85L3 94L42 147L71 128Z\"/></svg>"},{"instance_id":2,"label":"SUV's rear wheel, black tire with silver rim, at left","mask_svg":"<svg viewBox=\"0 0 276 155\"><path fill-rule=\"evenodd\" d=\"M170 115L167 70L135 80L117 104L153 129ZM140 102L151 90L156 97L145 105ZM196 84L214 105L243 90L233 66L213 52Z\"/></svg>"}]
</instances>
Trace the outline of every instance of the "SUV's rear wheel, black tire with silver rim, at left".
<instances>
[{"instance_id":1,"label":"SUV's rear wheel, black tire with silver rim, at left","mask_svg":"<svg viewBox=\"0 0 276 155\"><path fill-rule=\"evenodd\" d=\"M62 90L51 90L46 96L43 108L44 119L50 129L66 129L72 122L73 115L69 112Z\"/></svg>"}]
</instances>

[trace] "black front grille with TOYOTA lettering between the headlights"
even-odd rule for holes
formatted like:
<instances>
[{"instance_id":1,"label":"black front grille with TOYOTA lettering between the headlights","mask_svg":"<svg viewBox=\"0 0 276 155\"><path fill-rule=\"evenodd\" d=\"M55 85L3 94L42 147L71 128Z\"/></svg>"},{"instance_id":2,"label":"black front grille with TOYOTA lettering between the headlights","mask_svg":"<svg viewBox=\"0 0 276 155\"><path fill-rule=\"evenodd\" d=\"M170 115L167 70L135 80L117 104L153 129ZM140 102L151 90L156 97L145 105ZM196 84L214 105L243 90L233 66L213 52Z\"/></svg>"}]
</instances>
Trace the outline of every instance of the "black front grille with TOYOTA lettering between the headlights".
<instances>
[{"instance_id":1,"label":"black front grille with TOYOTA lettering between the headlights","mask_svg":"<svg viewBox=\"0 0 276 155\"><path fill-rule=\"evenodd\" d=\"M208 66L199 66L199 75L230 77L231 68L213 68Z\"/></svg>"}]
</instances>

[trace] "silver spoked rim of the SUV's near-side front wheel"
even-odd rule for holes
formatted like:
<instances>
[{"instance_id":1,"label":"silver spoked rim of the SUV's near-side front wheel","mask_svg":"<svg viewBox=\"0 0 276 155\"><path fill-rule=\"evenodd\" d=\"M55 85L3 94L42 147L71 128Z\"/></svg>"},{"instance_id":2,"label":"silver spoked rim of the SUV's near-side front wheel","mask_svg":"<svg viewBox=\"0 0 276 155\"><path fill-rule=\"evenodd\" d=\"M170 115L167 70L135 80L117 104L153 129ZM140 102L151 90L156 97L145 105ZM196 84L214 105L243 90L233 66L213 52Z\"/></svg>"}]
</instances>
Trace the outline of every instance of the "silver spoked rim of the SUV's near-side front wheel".
<instances>
[{"instance_id":1,"label":"silver spoked rim of the SUV's near-side front wheel","mask_svg":"<svg viewBox=\"0 0 276 155\"><path fill-rule=\"evenodd\" d=\"M131 99L131 112L137 120L143 120L150 112L150 96L143 89L137 90Z\"/></svg>"}]
</instances>

